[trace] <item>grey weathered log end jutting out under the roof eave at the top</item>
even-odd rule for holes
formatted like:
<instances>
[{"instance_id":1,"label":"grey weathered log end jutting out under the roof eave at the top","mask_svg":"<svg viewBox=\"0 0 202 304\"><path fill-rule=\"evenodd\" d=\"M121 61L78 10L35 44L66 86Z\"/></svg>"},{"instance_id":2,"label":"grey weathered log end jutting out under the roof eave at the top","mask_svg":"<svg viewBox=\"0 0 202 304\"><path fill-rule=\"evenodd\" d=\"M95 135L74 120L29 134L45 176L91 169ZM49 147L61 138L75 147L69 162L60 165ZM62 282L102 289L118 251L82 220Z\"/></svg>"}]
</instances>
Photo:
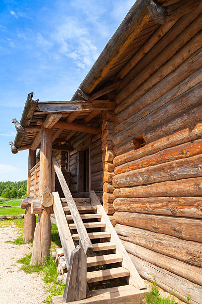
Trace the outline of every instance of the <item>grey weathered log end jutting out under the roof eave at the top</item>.
<instances>
[{"instance_id":1,"label":"grey weathered log end jutting out under the roof eave at the top","mask_svg":"<svg viewBox=\"0 0 202 304\"><path fill-rule=\"evenodd\" d=\"M158 24L164 24L169 20L166 8L159 5L153 0L144 0L147 8L153 18L153 20Z\"/></svg>"}]
</instances>

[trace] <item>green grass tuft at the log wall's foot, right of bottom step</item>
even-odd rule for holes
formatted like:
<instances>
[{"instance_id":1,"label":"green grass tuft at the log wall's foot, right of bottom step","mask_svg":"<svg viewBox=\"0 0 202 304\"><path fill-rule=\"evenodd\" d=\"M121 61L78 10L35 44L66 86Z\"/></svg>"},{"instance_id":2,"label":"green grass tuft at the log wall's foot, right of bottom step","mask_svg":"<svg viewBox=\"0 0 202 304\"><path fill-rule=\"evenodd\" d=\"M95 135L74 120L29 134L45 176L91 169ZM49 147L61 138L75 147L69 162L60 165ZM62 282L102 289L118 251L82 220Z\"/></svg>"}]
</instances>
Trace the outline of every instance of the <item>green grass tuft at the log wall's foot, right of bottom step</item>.
<instances>
[{"instance_id":1,"label":"green grass tuft at the log wall's foot, right of bottom step","mask_svg":"<svg viewBox=\"0 0 202 304\"><path fill-rule=\"evenodd\" d=\"M151 292L145 298L147 304L176 304L175 299L172 297L169 299L160 297L155 281L153 282Z\"/></svg>"}]
</instances>

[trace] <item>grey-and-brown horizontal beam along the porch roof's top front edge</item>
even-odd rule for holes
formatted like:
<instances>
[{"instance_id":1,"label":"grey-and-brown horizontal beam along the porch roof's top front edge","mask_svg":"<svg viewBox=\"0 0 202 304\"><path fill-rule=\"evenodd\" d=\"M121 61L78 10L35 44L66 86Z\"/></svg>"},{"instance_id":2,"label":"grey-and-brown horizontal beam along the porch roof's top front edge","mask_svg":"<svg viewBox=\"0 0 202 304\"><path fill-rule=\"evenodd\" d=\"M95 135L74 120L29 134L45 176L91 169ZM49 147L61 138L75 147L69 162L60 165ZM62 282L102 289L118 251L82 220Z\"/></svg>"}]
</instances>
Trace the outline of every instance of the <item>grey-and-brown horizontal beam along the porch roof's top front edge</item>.
<instances>
[{"instance_id":1,"label":"grey-and-brown horizontal beam along the porch roof's top front edge","mask_svg":"<svg viewBox=\"0 0 202 304\"><path fill-rule=\"evenodd\" d=\"M52 101L40 102L40 111L43 112L74 112L74 111L94 111L94 110L113 110L115 102L109 99L104 100L74 100L74 101Z\"/></svg>"}]
</instances>

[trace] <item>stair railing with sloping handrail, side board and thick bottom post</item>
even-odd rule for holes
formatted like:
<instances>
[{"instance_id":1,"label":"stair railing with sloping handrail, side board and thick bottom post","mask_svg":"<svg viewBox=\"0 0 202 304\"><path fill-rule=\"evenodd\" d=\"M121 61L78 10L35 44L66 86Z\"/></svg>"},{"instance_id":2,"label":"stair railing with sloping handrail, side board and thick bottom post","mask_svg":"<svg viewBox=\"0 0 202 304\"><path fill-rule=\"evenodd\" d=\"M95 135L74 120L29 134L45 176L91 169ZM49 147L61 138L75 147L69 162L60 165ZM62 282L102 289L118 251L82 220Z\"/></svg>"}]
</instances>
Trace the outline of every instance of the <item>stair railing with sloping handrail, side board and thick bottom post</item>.
<instances>
[{"instance_id":1,"label":"stair railing with sloping handrail, side board and thick bottom post","mask_svg":"<svg viewBox=\"0 0 202 304\"><path fill-rule=\"evenodd\" d=\"M87 297L87 254L93 252L93 246L54 155L52 156L52 162L79 236L79 245L75 248L58 192L53 192L55 220L59 230L64 256L68 263L63 300L64 302L73 302Z\"/></svg>"}]
</instances>

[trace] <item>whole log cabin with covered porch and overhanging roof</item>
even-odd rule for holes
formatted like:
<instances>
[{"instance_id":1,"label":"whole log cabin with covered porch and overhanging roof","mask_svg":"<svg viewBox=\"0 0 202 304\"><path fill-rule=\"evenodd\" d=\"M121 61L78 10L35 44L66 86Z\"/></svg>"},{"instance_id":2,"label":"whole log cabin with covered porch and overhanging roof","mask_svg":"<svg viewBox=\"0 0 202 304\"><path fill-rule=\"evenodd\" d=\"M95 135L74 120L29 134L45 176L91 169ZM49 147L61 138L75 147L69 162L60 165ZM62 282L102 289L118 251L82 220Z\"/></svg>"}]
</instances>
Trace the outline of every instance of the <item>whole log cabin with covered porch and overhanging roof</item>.
<instances>
[{"instance_id":1,"label":"whole log cabin with covered porch and overhanging roof","mask_svg":"<svg viewBox=\"0 0 202 304\"><path fill-rule=\"evenodd\" d=\"M65 256L64 298L53 297L52 303L87 296L84 283L85 295L69 299L68 280L79 273L70 267L75 256L82 259L92 249L88 236L101 233L86 233L78 211L98 207L97 219L106 225L101 231L110 231L119 255L127 251L128 264L123 260L122 266L134 267L129 284L139 293L133 297L135 291L127 290L124 298L121 287L109 298L97 291L78 303L141 303L140 275L155 278L184 302L201 304L202 1L137 0L70 101L32 98L28 94L20 122L12 120L17 134L10 142L13 153L29 150L27 199L21 206L24 240L34 239L32 263L43 262L49 252L50 213L64 251L69 223L79 239L76 249L69 241L74 254ZM91 206L79 207L79 200L88 203L89 197ZM73 219L68 225L60 223L63 210ZM115 252L109 243L104 249ZM104 278L112 277L117 274Z\"/></svg>"}]
</instances>

